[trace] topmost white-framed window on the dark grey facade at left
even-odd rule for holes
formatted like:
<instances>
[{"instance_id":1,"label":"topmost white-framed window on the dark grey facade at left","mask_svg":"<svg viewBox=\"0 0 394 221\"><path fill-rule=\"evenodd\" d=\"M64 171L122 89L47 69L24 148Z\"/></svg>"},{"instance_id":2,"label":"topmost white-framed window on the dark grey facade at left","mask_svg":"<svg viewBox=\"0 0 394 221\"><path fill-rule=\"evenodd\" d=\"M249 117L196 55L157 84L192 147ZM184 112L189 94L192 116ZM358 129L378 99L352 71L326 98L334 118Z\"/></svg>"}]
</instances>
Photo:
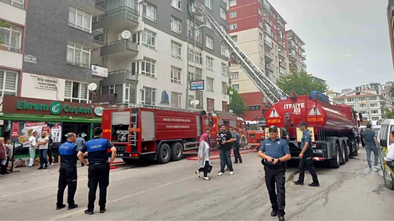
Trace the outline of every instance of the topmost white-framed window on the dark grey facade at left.
<instances>
[{"instance_id":1,"label":"topmost white-framed window on the dark grey facade at left","mask_svg":"<svg viewBox=\"0 0 394 221\"><path fill-rule=\"evenodd\" d=\"M92 15L72 6L68 10L68 25L74 28L91 32Z\"/></svg>"}]
</instances>

